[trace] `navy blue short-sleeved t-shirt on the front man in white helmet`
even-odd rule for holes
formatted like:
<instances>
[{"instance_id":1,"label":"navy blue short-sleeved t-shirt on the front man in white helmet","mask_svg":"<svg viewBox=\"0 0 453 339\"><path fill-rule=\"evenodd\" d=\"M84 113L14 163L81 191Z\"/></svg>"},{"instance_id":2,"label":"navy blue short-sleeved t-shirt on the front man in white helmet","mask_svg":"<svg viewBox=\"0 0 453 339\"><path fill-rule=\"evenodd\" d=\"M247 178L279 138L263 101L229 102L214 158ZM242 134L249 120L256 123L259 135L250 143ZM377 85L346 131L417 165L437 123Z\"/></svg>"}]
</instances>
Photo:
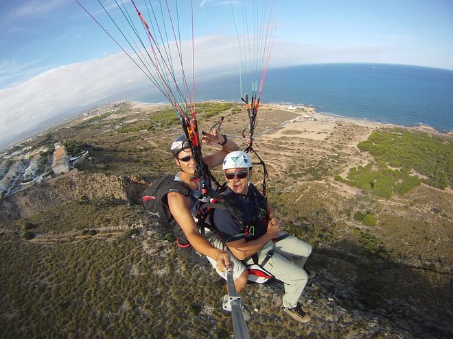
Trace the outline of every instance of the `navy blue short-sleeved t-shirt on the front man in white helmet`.
<instances>
[{"instance_id":1,"label":"navy blue short-sleeved t-shirt on the front man in white helmet","mask_svg":"<svg viewBox=\"0 0 453 339\"><path fill-rule=\"evenodd\" d=\"M223 242L240 238L245 238L247 241L254 240L266 233L267 227L262 221L262 216L266 214L266 199L253 184L248 186L247 195L236 194L229 188L223 195L228 197L228 201L237 209L242 225L246 227L248 233L244 235L244 230L237 224L229 210L216 208L213 213L213 222Z\"/></svg>"}]
</instances>

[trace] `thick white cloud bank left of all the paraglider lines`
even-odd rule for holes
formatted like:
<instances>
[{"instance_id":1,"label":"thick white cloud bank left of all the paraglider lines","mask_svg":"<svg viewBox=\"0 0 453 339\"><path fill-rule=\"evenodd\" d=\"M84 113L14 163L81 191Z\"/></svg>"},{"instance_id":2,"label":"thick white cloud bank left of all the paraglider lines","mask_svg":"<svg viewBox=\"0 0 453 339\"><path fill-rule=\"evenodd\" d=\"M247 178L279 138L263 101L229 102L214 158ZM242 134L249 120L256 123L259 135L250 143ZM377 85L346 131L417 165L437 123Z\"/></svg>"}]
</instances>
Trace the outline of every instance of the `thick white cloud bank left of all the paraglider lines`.
<instances>
[{"instance_id":1,"label":"thick white cloud bank left of all the paraglider lines","mask_svg":"<svg viewBox=\"0 0 453 339\"><path fill-rule=\"evenodd\" d=\"M0 90L0 135L6 138L13 131L23 133L62 112L77 112L114 96L124 87L134 88L143 82L143 76L121 54L52 68L22 84Z\"/></svg>"}]
</instances>

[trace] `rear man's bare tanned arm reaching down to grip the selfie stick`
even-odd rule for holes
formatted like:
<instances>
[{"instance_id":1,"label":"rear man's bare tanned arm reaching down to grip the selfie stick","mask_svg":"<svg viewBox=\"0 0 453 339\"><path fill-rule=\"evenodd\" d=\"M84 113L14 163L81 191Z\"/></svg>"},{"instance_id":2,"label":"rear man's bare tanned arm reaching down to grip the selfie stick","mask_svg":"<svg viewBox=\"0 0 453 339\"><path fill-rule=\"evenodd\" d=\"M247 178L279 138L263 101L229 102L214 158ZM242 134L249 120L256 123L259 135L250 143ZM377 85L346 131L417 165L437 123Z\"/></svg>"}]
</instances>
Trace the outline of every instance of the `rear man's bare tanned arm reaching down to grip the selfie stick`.
<instances>
[{"instance_id":1,"label":"rear man's bare tanned arm reaching down to grip the selfie stick","mask_svg":"<svg viewBox=\"0 0 453 339\"><path fill-rule=\"evenodd\" d=\"M232 267L233 262L229 258L229 254L220 249L216 249L212 244L198 232L198 227L194 221L194 217L190 212L190 198L177 192L167 194L168 207L174 216L178 225L190 244L203 255L207 255L213 260L216 260L220 270L225 270L227 267Z\"/></svg>"}]
</instances>

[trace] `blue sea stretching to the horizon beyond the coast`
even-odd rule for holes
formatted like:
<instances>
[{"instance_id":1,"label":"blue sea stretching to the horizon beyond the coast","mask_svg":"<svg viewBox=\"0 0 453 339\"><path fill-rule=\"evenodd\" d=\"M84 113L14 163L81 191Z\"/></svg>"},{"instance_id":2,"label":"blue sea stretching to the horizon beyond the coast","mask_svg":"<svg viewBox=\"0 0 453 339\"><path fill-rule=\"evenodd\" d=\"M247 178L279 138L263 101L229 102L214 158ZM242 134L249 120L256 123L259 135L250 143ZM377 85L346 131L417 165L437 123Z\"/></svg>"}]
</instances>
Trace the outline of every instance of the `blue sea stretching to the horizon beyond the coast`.
<instances>
[{"instance_id":1,"label":"blue sea stretching to the horizon beyond the coast","mask_svg":"<svg viewBox=\"0 0 453 339\"><path fill-rule=\"evenodd\" d=\"M196 84L196 100L240 101L239 75ZM251 85L249 86L251 89ZM242 84L244 92L246 84ZM146 92L128 98L162 102ZM314 106L318 112L453 131L453 71L399 64L311 64L268 70L263 103Z\"/></svg>"}]
</instances>

